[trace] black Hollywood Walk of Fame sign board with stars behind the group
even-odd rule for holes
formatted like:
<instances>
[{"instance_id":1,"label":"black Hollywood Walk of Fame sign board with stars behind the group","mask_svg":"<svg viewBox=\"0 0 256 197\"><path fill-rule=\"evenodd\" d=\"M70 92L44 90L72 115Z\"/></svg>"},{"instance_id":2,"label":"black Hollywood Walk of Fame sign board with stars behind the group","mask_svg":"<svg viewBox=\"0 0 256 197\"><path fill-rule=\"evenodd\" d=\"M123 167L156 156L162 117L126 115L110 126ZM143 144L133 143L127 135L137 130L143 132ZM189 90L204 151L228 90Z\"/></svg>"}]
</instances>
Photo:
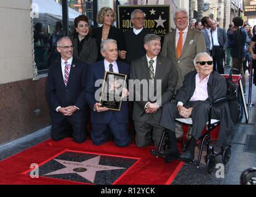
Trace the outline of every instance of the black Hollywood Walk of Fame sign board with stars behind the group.
<instances>
[{"instance_id":1,"label":"black Hollywood Walk of Fame sign board with stars behind the group","mask_svg":"<svg viewBox=\"0 0 256 197\"><path fill-rule=\"evenodd\" d=\"M118 6L118 26L121 30L126 31L132 28L130 14L133 10L140 9L144 12L144 27L159 36L165 36L171 28L170 15L171 7L169 5L161 6Z\"/></svg>"}]
</instances>

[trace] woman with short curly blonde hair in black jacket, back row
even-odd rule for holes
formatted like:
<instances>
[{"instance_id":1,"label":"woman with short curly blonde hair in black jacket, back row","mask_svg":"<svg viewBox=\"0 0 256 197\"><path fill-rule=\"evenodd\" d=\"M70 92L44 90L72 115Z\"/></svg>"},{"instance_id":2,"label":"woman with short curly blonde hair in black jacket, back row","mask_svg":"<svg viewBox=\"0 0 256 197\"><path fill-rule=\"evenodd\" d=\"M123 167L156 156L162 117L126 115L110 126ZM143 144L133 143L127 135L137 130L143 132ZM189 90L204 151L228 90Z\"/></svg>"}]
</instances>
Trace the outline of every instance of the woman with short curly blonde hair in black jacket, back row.
<instances>
[{"instance_id":1,"label":"woman with short curly blonde hair in black jacket, back row","mask_svg":"<svg viewBox=\"0 0 256 197\"><path fill-rule=\"evenodd\" d=\"M121 54L121 50L125 50L124 47L124 37L122 30L113 26L116 21L116 15L113 9L110 7L102 7L98 12L96 17L98 24L103 24L102 26L93 29L93 37L96 38L96 43L98 46L98 61L103 60L102 55L100 55L100 43L103 39L111 38L117 41L118 55L120 58L125 58L125 54Z\"/></svg>"}]
</instances>

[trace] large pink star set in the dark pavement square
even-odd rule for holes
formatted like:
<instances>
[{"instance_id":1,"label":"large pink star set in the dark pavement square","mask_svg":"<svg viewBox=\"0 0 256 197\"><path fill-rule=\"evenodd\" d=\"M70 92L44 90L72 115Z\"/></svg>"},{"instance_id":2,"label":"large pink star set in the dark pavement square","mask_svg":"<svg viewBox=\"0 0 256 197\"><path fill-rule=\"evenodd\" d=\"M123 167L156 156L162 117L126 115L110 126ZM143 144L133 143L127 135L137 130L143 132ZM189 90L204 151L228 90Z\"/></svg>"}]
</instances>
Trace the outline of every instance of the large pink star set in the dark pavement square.
<instances>
[{"instance_id":1,"label":"large pink star set in the dark pavement square","mask_svg":"<svg viewBox=\"0 0 256 197\"><path fill-rule=\"evenodd\" d=\"M100 156L95 156L94 158L87 159L82 162L66 161L61 159L54 159L54 160L58 161L59 163L61 163L66 167L59 169L57 171L49 172L48 174L44 174L44 175L76 173L81 177L89 180L92 183L94 183L95 175L97 171L111 171L116 169L125 169L124 167L99 165Z\"/></svg>"}]
</instances>

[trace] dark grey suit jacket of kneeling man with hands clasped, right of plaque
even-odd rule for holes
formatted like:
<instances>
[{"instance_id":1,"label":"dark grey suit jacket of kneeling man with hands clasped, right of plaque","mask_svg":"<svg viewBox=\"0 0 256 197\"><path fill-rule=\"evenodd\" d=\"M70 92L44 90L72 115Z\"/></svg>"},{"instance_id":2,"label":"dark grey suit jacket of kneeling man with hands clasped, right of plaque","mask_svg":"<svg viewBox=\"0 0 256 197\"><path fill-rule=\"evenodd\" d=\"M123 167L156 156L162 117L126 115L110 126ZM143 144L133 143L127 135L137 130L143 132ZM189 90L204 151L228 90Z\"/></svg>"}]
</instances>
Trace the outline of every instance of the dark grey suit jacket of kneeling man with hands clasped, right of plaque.
<instances>
[{"instance_id":1,"label":"dark grey suit jacket of kneeling man with hands clasped, right of plaque","mask_svg":"<svg viewBox=\"0 0 256 197\"><path fill-rule=\"evenodd\" d=\"M143 55L142 57L132 61L130 65L130 79L139 79L140 82L142 82L142 80L147 80L147 83L151 84L151 82L148 81L150 79L150 73L146 55ZM156 82L156 79L161 80L160 84ZM154 95L156 95L156 101L160 105L169 102L174 95L176 82L177 72L174 69L173 63L168 58L158 55L156 58L154 87L149 86L148 89L146 89L147 94L143 94L143 92L145 92L145 87L142 88L139 83L135 83L135 86L133 86L135 97L132 119L134 119L135 121L147 121L150 116L153 116L153 118L155 119L155 124L158 124L161 117L161 108L158 109L156 113L148 114L145 113L145 105L147 102L155 102L153 98ZM132 94L131 84L129 84L129 87L129 94ZM150 87L152 88L151 90L149 90ZM159 90L161 90L160 95L158 95L157 92ZM137 98L138 95L140 97L140 100L138 100Z\"/></svg>"}]
</instances>

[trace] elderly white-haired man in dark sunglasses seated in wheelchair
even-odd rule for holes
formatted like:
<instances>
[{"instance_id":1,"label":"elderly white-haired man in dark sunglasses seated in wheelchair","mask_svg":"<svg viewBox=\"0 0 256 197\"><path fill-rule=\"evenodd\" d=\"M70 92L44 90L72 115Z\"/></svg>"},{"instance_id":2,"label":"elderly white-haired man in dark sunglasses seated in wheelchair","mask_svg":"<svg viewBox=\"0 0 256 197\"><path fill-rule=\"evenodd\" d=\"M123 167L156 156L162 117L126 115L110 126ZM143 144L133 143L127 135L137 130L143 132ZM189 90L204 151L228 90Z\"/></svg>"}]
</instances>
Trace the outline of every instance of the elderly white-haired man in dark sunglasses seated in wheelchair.
<instances>
[{"instance_id":1,"label":"elderly white-haired man in dark sunglasses seated in wheelchair","mask_svg":"<svg viewBox=\"0 0 256 197\"><path fill-rule=\"evenodd\" d=\"M190 162L194 159L195 146L207 121L210 103L227 94L226 79L213 71L213 60L207 53L200 53L194 59L195 71L185 76L183 86L178 90L176 103L163 105L160 126L168 131L171 147L162 154ZM175 136L175 118L192 118L192 137L187 151L180 154ZM220 119L220 132L216 145L226 146L233 133L233 122L228 103L219 103L211 108L211 118Z\"/></svg>"}]
</instances>

